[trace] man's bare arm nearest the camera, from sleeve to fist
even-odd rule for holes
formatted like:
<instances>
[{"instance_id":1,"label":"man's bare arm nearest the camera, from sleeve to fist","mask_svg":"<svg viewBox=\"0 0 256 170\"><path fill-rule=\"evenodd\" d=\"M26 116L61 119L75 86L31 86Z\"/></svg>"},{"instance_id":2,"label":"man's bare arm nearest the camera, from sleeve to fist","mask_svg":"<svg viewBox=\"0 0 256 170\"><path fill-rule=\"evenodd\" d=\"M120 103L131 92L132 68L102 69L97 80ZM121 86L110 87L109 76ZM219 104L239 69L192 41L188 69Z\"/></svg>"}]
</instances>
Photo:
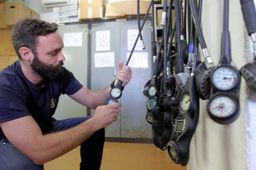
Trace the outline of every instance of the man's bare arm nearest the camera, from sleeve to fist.
<instances>
[{"instance_id":1,"label":"man's bare arm nearest the camera, from sleeve to fist","mask_svg":"<svg viewBox=\"0 0 256 170\"><path fill-rule=\"evenodd\" d=\"M119 116L120 103L97 107L91 119L67 130L42 135L32 116L0 123L6 138L35 164L42 165L69 152L97 130L110 125Z\"/></svg>"}]
</instances>

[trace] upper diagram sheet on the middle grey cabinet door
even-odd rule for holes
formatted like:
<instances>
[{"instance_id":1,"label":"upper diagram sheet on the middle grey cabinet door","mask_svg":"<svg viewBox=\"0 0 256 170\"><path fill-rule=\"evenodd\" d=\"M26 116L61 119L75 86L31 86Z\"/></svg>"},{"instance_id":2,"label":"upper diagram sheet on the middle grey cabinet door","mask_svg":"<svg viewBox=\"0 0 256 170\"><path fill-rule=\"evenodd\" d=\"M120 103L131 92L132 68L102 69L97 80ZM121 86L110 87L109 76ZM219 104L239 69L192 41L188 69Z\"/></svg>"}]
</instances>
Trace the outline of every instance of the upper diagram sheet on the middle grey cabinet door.
<instances>
[{"instance_id":1,"label":"upper diagram sheet on the middle grey cabinet door","mask_svg":"<svg viewBox=\"0 0 256 170\"><path fill-rule=\"evenodd\" d=\"M96 31L96 51L110 50L110 30Z\"/></svg>"}]
</instances>

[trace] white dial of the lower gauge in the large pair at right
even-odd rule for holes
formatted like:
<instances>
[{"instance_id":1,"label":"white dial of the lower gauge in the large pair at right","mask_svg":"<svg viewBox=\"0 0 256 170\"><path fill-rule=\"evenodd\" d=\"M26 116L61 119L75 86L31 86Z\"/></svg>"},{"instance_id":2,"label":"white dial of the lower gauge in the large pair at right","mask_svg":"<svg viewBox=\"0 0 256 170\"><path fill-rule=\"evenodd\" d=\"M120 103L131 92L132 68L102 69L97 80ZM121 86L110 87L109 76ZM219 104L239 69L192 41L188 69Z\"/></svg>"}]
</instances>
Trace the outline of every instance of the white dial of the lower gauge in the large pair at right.
<instances>
[{"instance_id":1,"label":"white dial of the lower gauge in the large pair at right","mask_svg":"<svg viewBox=\"0 0 256 170\"><path fill-rule=\"evenodd\" d=\"M210 103L210 112L217 117L227 117L236 110L235 102L226 96L219 96Z\"/></svg>"}]
</instances>

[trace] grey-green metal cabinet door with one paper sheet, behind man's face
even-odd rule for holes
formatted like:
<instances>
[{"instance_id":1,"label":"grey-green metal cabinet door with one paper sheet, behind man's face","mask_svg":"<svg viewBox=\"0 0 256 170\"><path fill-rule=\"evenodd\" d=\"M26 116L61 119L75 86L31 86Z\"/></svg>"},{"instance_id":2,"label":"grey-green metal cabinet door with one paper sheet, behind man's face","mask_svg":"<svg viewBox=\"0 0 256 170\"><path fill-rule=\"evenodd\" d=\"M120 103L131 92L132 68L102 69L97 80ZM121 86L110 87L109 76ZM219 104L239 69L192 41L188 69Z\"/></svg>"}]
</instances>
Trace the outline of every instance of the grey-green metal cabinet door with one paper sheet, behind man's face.
<instances>
[{"instance_id":1,"label":"grey-green metal cabinet door with one paper sheet, behind man's face","mask_svg":"<svg viewBox=\"0 0 256 170\"><path fill-rule=\"evenodd\" d=\"M65 56L64 66L73 73L83 86L87 87L88 24L62 25L59 26L58 33L61 35L65 45L62 49L62 53ZM82 36L73 36L76 33ZM77 40L81 40L82 44L75 46ZM71 41L74 44L70 44ZM55 119L61 120L80 116L87 116L87 107L72 100L68 95L61 95L54 114Z\"/></svg>"}]
</instances>

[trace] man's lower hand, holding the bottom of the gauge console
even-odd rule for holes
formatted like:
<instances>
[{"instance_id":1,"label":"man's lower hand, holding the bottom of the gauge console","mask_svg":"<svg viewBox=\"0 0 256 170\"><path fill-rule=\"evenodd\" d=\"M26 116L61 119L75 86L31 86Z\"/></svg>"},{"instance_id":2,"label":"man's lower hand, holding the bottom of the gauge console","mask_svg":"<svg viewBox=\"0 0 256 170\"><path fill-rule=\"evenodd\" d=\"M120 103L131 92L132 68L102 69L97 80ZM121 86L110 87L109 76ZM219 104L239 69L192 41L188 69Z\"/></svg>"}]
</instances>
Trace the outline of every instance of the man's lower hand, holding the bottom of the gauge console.
<instances>
[{"instance_id":1,"label":"man's lower hand, holding the bottom of the gauge console","mask_svg":"<svg viewBox=\"0 0 256 170\"><path fill-rule=\"evenodd\" d=\"M121 107L121 103L98 106L91 119L95 120L101 128L107 127L117 120L120 112L119 107Z\"/></svg>"}]
</instances>

